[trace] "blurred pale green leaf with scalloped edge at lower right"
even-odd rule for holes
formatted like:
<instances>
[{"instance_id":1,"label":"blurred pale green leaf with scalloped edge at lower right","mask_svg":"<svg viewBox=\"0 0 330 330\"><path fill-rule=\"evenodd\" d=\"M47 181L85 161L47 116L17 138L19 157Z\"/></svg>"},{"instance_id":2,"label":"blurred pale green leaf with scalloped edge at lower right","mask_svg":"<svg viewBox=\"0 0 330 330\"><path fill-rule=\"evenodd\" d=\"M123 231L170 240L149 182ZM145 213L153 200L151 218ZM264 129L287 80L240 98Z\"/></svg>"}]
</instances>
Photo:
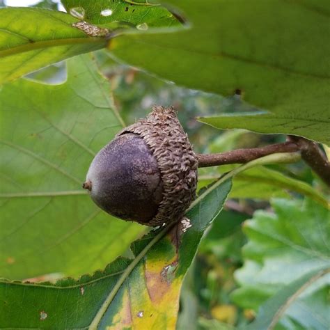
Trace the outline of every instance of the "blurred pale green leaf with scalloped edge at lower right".
<instances>
[{"instance_id":1,"label":"blurred pale green leaf with scalloped edge at lower right","mask_svg":"<svg viewBox=\"0 0 330 330\"><path fill-rule=\"evenodd\" d=\"M330 239L329 211L309 199L276 199L272 201L272 207L274 213L257 211L253 219L246 221L244 226L249 242L244 247L244 267L235 274L241 288L233 292L234 301L244 308L257 310L272 296L274 299L269 304L282 306L285 299L282 288L288 285L287 294L290 296L290 288L295 292L294 288L301 283L294 283L297 278L301 278L304 283L308 281L308 276L320 272L320 269L330 268L327 243ZM319 282L318 286L316 284L313 285L313 290L307 292L308 299L304 301L304 313L310 315L309 319L299 317L299 306L303 304L299 298L292 301L284 314L287 320L290 316L290 319L294 318L294 322L306 327L306 322L320 325L323 322L322 317L327 319L326 315L313 316L313 304L308 302L313 301L313 294L318 289L326 290L324 281ZM275 298L276 293L278 300ZM267 306L265 308L268 309ZM319 309L324 311L324 308Z\"/></svg>"}]
</instances>

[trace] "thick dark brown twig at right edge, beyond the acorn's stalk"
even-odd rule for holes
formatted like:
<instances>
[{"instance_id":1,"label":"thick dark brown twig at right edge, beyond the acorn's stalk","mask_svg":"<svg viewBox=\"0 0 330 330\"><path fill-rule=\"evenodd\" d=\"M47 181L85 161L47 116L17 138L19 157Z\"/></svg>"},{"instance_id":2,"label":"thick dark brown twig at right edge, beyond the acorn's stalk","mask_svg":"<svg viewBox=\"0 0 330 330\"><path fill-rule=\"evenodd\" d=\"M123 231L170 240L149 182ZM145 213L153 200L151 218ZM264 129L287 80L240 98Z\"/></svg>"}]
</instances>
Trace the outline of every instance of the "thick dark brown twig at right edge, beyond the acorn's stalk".
<instances>
[{"instance_id":1,"label":"thick dark brown twig at right edge, beyond the acorn's stalk","mask_svg":"<svg viewBox=\"0 0 330 330\"><path fill-rule=\"evenodd\" d=\"M301 136L289 136L288 139L297 144L301 158L330 186L330 162L317 143Z\"/></svg>"}]
</instances>

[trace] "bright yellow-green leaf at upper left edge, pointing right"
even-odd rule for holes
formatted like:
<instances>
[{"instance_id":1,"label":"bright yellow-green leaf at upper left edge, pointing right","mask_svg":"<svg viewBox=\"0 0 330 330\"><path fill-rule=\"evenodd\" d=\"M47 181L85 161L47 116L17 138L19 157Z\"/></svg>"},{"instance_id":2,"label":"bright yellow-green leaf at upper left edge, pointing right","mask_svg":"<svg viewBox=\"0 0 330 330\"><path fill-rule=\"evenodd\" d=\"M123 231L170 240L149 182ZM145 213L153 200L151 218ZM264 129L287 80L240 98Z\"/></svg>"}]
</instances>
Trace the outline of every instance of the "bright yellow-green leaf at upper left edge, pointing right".
<instances>
[{"instance_id":1,"label":"bright yellow-green leaf at upper left edge, pointing right","mask_svg":"<svg viewBox=\"0 0 330 330\"><path fill-rule=\"evenodd\" d=\"M78 19L40 8L0 9L0 84L81 53L105 47L72 26Z\"/></svg>"}]
</instances>

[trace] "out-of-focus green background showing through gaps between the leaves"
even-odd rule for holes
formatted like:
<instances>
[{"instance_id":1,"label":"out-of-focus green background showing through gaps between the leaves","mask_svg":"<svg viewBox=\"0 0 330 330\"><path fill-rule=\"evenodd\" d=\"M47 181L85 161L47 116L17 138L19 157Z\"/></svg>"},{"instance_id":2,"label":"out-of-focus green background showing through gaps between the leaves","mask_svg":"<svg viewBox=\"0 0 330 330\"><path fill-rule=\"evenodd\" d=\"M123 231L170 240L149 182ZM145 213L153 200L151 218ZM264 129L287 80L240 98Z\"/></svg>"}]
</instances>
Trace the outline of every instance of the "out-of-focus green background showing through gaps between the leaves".
<instances>
[{"instance_id":1,"label":"out-of-focus green background showing through gaps between the leaves","mask_svg":"<svg viewBox=\"0 0 330 330\"><path fill-rule=\"evenodd\" d=\"M14 2L0 1L0 6L13 5ZM57 9L58 1L55 3L44 0L35 6ZM224 152L285 141L284 136L276 134L261 135L241 129L219 131L195 120L196 116L258 110L244 104L239 95L221 97L181 88L134 68L119 65L104 50L95 52L93 56L100 72L111 81L114 102L127 125L145 117L154 104L172 105L178 111L180 122L196 152ZM61 84L66 78L65 63L50 65L48 68L29 74L27 78L47 84ZM230 168L233 166L200 169L201 187ZM268 166L268 168L281 170L291 178L297 178L325 190L311 170L302 163L290 166ZM204 183L203 179L205 179ZM194 264L185 278L178 329L233 329L233 327L244 327L256 316L256 312L252 309L237 306L231 297L233 290L238 287L234 272L243 265L242 246L247 241L242 232L242 223L246 219L251 219L255 210L269 210L269 196L283 196L283 194L292 196L292 193L288 194L279 188L261 191L262 194L265 193L265 198L239 198L237 196L242 194L239 195L237 191L239 191L238 186L237 190L234 189L225 210L219 214L218 219L203 238ZM297 193L293 195L299 197Z\"/></svg>"}]
</instances>

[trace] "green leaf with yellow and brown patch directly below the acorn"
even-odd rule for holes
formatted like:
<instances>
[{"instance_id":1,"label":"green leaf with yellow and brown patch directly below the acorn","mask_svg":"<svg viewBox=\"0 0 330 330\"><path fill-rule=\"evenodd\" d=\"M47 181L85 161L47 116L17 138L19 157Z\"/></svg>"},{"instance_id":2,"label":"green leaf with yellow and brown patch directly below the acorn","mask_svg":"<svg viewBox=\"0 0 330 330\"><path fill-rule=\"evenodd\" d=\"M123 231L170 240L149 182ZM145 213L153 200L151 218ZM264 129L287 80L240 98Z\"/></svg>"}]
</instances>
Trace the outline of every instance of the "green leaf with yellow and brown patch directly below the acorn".
<instances>
[{"instance_id":1,"label":"green leaf with yellow and brown patch directly below the acorn","mask_svg":"<svg viewBox=\"0 0 330 330\"><path fill-rule=\"evenodd\" d=\"M218 182L194 201L187 231L180 221L171 230L152 230L132 244L134 259L118 258L104 272L55 285L0 281L1 326L175 329L182 279L230 185Z\"/></svg>"}]
</instances>

